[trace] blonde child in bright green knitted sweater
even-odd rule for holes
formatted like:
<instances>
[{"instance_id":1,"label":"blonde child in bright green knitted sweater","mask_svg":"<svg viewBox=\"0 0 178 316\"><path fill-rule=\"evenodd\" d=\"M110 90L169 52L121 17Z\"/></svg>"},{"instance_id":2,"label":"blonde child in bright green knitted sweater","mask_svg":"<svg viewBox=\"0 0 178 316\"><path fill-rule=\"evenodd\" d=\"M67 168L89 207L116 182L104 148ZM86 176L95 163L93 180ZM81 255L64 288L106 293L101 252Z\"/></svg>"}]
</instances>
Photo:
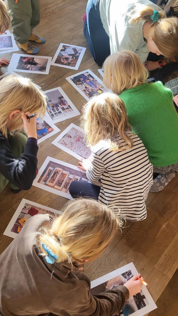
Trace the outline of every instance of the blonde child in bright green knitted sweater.
<instances>
[{"instance_id":1,"label":"blonde child in bright green knitted sweater","mask_svg":"<svg viewBox=\"0 0 178 316\"><path fill-rule=\"evenodd\" d=\"M103 83L124 101L132 132L143 141L157 173L150 192L158 192L178 169L178 115L171 90L146 82L147 77L135 52L123 50L104 62Z\"/></svg>"}]
</instances>

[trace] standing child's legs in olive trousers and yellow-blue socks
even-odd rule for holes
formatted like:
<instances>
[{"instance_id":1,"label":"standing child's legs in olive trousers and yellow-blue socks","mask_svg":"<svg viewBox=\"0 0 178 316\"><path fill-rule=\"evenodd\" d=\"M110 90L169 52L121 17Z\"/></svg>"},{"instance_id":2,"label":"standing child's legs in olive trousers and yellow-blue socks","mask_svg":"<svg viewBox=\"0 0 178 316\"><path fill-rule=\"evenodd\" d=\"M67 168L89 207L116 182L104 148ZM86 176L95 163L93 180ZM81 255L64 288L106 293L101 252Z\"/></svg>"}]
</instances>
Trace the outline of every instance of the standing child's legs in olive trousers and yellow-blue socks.
<instances>
[{"instance_id":1,"label":"standing child's legs in olive trousers and yellow-blue socks","mask_svg":"<svg viewBox=\"0 0 178 316\"><path fill-rule=\"evenodd\" d=\"M39 0L7 0L7 2L15 40L26 53L36 54L39 48L30 42L45 42L43 37L33 34L33 29L40 23Z\"/></svg>"}]
</instances>

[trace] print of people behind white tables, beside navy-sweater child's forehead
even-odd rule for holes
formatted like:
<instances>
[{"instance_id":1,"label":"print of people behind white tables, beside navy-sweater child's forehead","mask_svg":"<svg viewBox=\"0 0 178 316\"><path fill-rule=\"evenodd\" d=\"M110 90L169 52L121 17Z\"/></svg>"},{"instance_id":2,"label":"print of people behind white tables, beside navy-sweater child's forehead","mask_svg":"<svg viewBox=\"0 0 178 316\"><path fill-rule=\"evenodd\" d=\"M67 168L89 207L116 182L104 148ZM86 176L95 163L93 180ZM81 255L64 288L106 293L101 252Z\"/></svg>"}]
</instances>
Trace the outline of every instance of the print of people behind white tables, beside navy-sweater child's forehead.
<instances>
[{"instance_id":1,"label":"print of people behind white tables, beside navy-sweater child's forehead","mask_svg":"<svg viewBox=\"0 0 178 316\"><path fill-rule=\"evenodd\" d=\"M45 93L48 98L46 117L51 119L53 123L80 115L80 112L60 87L47 90Z\"/></svg>"}]
</instances>

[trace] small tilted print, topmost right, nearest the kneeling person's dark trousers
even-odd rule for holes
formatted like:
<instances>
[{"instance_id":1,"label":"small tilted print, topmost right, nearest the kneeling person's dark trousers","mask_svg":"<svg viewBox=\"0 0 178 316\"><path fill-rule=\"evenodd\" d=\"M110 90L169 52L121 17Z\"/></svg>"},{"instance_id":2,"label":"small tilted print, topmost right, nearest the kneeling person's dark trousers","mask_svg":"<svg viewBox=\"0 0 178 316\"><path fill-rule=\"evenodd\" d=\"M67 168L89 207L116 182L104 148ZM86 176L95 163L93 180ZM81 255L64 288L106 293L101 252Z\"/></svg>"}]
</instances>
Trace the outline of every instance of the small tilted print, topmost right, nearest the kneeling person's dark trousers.
<instances>
[{"instance_id":1,"label":"small tilted print, topmost right, nearest the kneeling person's dark trousers","mask_svg":"<svg viewBox=\"0 0 178 316\"><path fill-rule=\"evenodd\" d=\"M70 69L78 69L86 48L61 43L52 59L52 65Z\"/></svg>"}]
</instances>

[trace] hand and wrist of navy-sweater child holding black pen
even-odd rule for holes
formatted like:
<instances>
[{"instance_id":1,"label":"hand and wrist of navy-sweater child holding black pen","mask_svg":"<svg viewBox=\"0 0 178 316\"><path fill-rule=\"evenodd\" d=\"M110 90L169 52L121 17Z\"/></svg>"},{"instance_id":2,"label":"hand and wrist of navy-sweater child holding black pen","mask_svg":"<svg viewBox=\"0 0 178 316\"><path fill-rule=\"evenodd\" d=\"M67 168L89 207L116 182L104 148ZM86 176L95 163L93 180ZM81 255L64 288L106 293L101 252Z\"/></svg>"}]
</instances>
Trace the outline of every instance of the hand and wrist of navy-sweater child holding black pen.
<instances>
[{"instance_id":1,"label":"hand and wrist of navy-sweater child holding black pen","mask_svg":"<svg viewBox=\"0 0 178 316\"><path fill-rule=\"evenodd\" d=\"M37 131L36 131L36 117L27 119L27 115L29 116L31 113L21 113L21 118L23 120L24 131L27 134L27 137L33 137L37 139Z\"/></svg>"}]
</instances>

